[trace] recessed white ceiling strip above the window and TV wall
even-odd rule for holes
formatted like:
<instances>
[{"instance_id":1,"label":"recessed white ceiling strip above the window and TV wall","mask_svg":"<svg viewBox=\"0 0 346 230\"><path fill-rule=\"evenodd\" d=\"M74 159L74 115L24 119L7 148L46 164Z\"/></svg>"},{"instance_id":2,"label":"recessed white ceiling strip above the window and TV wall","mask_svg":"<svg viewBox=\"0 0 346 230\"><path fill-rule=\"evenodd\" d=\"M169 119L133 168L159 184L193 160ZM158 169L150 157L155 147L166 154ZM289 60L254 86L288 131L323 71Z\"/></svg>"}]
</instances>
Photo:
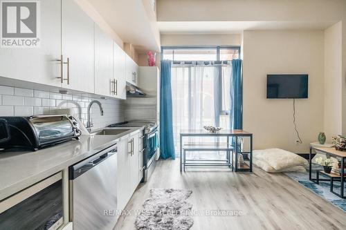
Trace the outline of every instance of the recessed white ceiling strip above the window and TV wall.
<instances>
[{"instance_id":1,"label":"recessed white ceiling strip above the window and TV wall","mask_svg":"<svg viewBox=\"0 0 346 230\"><path fill-rule=\"evenodd\" d=\"M158 21L161 34L239 34L243 30L324 30L317 21Z\"/></svg>"}]
</instances>

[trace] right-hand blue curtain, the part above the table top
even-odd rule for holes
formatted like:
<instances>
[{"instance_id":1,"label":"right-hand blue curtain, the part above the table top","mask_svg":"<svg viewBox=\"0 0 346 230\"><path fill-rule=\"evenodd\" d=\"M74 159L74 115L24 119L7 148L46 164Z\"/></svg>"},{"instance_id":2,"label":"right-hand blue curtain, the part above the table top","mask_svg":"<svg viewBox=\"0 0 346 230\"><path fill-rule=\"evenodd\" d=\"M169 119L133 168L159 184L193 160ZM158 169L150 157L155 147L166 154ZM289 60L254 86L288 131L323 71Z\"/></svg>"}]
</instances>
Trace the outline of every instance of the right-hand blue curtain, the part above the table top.
<instances>
[{"instance_id":1,"label":"right-hand blue curtain, the part above the table top","mask_svg":"<svg viewBox=\"0 0 346 230\"><path fill-rule=\"evenodd\" d=\"M243 85L242 85L242 60L232 60L232 81L230 83L230 127L243 128Z\"/></svg>"}]
</instances>

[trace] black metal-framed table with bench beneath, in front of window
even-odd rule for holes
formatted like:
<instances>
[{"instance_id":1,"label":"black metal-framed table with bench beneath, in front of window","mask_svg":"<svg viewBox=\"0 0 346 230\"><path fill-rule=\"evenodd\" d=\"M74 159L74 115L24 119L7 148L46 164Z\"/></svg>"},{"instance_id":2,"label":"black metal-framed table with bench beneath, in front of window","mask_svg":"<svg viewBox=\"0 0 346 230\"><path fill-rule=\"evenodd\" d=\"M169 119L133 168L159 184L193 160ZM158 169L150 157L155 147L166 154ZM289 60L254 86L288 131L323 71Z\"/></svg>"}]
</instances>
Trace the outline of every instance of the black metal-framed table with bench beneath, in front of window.
<instances>
[{"instance_id":1,"label":"black metal-framed table with bench beneath, in front of window","mask_svg":"<svg viewBox=\"0 0 346 230\"><path fill-rule=\"evenodd\" d=\"M212 144L197 144L197 146L184 146L184 137L226 137L226 145L219 143ZM247 137L249 139L249 150L242 151L239 148L238 140L241 137ZM233 141L234 140L234 141ZM194 160L185 159L185 151L226 151L225 162L215 163L217 160L203 160L203 163L193 162ZM230 157L232 153L232 157ZM235 164L233 164L233 153L235 153ZM238 153L248 153L249 154L249 164L244 164L244 166L238 166ZM231 159L230 159L231 158ZM232 163L230 162L232 160ZM223 161L223 160L219 160ZM182 130L180 133L180 171L185 169L185 166L229 166L232 171L253 171L253 134L242 130L221 130L217 133L209 133L206 130Z\"/></svg>"}]
</instances>

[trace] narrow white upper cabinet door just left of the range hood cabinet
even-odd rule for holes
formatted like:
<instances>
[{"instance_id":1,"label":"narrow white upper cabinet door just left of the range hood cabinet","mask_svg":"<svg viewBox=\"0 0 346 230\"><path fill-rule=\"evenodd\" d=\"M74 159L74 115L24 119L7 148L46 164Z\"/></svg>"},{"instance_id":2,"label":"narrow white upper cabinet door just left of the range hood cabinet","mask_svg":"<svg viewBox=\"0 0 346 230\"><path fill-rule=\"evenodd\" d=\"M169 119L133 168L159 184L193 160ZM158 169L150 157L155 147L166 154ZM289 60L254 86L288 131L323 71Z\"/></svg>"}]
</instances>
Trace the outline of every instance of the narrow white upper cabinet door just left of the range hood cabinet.
<instances>
[{"instance_id":1,"label":"narrow white upper cabinet door just left of the range hood cabinet","mask_svg":"<svg viewBox=\"0 0 346 230\"><path fill-rule=\"evenodd\" d=\"M113 79L116 80L116 96L126 99L126 53L113 42Z\"/></svg>"}]
</instances>

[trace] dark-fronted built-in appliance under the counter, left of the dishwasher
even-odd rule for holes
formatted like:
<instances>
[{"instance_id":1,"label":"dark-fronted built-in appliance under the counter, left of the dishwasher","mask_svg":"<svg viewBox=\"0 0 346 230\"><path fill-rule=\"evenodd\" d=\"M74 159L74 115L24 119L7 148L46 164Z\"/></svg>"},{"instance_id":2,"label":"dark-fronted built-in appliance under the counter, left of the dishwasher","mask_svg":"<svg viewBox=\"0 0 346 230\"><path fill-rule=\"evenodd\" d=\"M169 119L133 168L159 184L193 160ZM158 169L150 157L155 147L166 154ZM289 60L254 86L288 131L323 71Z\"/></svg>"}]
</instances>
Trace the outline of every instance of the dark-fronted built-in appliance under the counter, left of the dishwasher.
<instances>
[{"instance_id":1,"label":"dark-fronted built-in appliance under the counter, left of the dishwasher","mask_svg":"<svg viewBox=\"0 0 346 230\"><path fill-rule=\"evenodd\" d=\"M62 173L0 202L0 229L55 230L64 224Z\"/></svg>"}]
</instances>

